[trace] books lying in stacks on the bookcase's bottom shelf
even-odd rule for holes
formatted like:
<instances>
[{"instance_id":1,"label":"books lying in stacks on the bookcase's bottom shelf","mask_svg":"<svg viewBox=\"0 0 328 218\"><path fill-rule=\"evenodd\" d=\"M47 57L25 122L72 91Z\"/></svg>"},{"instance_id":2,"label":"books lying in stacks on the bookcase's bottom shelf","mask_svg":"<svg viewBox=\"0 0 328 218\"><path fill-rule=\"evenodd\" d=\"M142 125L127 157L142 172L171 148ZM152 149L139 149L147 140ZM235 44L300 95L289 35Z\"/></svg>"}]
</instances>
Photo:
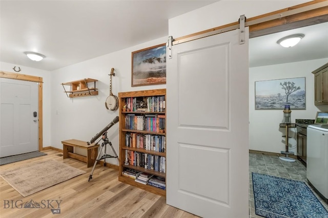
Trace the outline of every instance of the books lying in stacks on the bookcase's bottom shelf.
<instances>
[{"instance_id":1,"label":"books lying in stacks on the bookcase's bottom shelf","mask_svg":"<svg viewBox=\"0 0 328 218\"><path fill-rule=\"evenodd\" d=\"M134 179L134 181L144 184L151 185L157 188L166 189L166 181L165 178L154 176L149 173L136 171L135 169L126 168L124 172L122 172L123 176Z\"/></svg>"}]
</instances>

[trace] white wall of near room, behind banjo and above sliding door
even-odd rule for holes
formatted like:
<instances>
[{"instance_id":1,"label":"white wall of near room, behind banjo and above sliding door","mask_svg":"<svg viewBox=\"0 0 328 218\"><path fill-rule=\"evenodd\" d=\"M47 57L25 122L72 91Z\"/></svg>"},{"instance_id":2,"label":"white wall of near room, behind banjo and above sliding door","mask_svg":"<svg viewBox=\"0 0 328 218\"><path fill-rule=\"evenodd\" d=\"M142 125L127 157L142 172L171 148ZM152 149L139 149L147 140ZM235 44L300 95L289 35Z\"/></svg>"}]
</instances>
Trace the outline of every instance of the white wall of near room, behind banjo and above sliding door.
<instances>
[{"instance_id":1,"label":"white wall of near room, behind banjo and above sliding door","mask_svg":"<svg viewBox=\"0 0 328 218\"><path fill-rule=\"evenodd\" d=\"M254 17L304 2L310 1L220 1L171 18L169 20L169 35L172 35L173 38L181 37L235 22L242 14L246 17ZM96 133L118 115L118 111L109 111L105 108L105 100L109 95L108 74L110 74L112 67L116 69L115 77L113 77L113 93L115 95L121 91L166 88L166 85L131 87L131 52L166 41L167 37L155 39L125 50L54 70L51 74L45 70L21 66L24 74L44 78L44 147L53 146L62 149L61 140L70 138L90 141ZM13 66L13 64L2 63L1 70L12 71ZM99 94L97 96L67 98L60 84L83 78L99 80L96 83ZM118 153L118 125L109 130L108 136ZM117 161L111 163L118 164Z\"/></svg>"}]
</instances>

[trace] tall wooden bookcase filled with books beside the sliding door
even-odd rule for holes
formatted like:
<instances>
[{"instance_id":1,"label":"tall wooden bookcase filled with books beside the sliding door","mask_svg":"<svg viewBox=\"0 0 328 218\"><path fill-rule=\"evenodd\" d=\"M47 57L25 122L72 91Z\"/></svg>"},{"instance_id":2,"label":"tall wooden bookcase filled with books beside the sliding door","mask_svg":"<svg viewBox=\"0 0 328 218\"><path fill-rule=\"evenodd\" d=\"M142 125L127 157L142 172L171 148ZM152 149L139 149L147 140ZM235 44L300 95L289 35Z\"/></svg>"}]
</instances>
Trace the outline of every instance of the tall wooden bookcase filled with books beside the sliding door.
<instances>
[{"instance_id":1,"label":"tall wooden bookcase filled with books beside the sliding door","mask_svg":"<svg viewBox=\"0 0 328 218\"><path fill-rule=\"evenodd\" d=\"M119 92L118 101L118 180L166 196L166 89ZM135 180L145 175L147 183Z\"/></svg>"}]
</instances>

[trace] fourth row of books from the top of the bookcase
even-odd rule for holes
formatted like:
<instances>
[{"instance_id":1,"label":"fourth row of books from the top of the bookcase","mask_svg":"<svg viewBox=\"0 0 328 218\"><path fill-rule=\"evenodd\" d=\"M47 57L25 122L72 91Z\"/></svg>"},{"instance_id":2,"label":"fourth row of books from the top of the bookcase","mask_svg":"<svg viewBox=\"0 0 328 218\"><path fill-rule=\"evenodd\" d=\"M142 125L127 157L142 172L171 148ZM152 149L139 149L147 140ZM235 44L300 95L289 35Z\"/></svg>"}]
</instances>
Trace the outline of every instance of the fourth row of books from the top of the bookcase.
<instances>
[{"instance_id":1,"label":"fourth row of books from the top of the bookcase","mask_svg":"<svg viewBox=\"0 0 328 218\"><path fill-rule=\"evenodd\" d=\"M125 150L124 164L141 166L161 173L166 172L166 158L158 155Z\"/></svg>"}]
</instances>

